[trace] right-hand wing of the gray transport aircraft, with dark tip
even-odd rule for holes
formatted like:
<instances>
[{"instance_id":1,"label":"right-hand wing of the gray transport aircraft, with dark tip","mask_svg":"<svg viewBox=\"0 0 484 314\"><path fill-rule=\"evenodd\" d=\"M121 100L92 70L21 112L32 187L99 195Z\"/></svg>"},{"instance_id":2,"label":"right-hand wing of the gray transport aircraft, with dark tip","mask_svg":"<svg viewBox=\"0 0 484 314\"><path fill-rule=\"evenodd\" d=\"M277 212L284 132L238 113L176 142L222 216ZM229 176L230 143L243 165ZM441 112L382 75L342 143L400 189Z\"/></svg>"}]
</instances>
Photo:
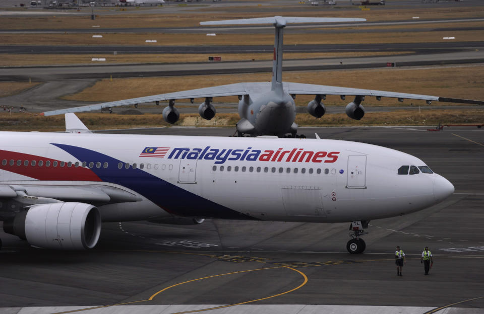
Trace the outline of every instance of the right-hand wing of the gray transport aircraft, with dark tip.
<instances>
[{"instance_id":1,"label":"right-hand wing of the gray transport aircraft, with dark tip","mask_svg":"<svg viewBox=\"0 0 484 314\"><path fill-rule=\"evenodd\" d=\"M283 88L288 94L296 94L296 95L376 96L376 97L398 98L401 100L419 99L419 100L425 100L428 102L439 101L439 102L447 102L447 103L484 105L484 101L480 101L480 100L447 98L447 97L438 97L438 96L429 96L429 95L395 93L395 92L365 90L365 89L354 89L354 88L345 88L345 87L327 86L327 85L283 82Z\"/></svg>"}]
</instances>

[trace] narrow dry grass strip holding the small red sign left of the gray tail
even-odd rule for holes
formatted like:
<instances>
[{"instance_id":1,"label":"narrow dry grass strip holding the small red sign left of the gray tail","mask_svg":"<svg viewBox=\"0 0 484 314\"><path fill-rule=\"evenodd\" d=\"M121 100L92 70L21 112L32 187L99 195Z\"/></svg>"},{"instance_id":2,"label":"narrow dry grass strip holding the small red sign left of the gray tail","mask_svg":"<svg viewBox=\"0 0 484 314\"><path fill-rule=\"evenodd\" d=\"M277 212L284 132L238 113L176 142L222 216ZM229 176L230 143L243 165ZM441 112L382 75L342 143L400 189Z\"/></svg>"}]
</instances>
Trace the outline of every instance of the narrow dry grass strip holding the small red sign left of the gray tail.
<instances>
[{"instance_id":1,"label":"narrow dry grass strip holding the small red sign left of the gray tail","mask_svg":"<svg viewBox=\"0 0 484 314\"><path fill-rule=\"evenodd\" d=\"M382 52L309 52L309 53L285 53L284 60L290 59L316 59L331 57L364 57L408 54L411 51L382 51ZM220 56L222 61L260 61L272 60L273 54L269 53L160 53L160 54L2 54L1 66L33 66L33 65L66 65L66 64L114 64L114 63L183 63L183 62L209 62L209 56ZM106 61L91 61L92 58L105 58ZM0 83L0 86L2 83ZM1 87L0 87L1 88ZM1 94L0 94L1 96Z\"/></svg>"}]
</instances>

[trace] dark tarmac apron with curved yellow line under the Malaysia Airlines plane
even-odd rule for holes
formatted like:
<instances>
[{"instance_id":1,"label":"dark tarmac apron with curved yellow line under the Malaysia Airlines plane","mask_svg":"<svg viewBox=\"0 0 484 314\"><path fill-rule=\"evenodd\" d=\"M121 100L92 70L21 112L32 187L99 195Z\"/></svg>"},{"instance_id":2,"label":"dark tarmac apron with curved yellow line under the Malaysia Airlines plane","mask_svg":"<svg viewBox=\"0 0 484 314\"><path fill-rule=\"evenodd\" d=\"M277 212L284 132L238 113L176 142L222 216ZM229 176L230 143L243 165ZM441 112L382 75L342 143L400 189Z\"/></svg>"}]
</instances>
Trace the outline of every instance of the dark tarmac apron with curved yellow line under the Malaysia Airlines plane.
<instances>
[{"instance_id":1,"label":"dark tarmac apron with curved yellow line under the Malaysia Airlines plane","mask_svg":"<svg viewBox=\"0 0 484 314\"><path fill-rule=\"evenodd\" d=\"M484 227L479 221L484 219L484 131L425 129L300 130L308 137L314 138L317 132L321 138L355 140L413 154L454 184L455 193L436 206L371 221L364 254L346 253L347 223L106 223L99 245L87 252L33 249L0 231L4 242L0 313L16 313L23 306L30 307L22 313L44 313L127 302L135 303L87 312L173 313L228 305L208 312L482 313ZM133 132L228 136L233 129L171 127ZM395 274L396 245L408 258L403 277ZM434 254L430 276L423 276L419 263L425 246ZM244 305L235 305L240 303ZM446 307L449 304L454 304L453 309Z\"/></svg>"}]
</instances>

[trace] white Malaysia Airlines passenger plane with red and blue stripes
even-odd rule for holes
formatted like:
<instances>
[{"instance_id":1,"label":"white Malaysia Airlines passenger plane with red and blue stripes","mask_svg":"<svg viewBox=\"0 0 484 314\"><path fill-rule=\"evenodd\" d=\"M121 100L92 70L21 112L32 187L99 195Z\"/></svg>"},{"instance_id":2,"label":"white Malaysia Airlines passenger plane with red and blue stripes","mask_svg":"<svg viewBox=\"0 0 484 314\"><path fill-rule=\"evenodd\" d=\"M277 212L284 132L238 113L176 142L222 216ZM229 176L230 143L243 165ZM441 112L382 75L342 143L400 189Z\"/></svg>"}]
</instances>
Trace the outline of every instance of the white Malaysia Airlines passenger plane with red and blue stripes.
<instances>
[{"instance_id":1,"label":"white Malaysia Airlines passenger plane with red and blue stripes","mask_svg":"<svg viewBox=\"0 0 484 314\"><path fill-rule=\"evenodd\" d=\"M0 220L34 247L93 248L101 222L204 218L351 222L441 202L454 186L418 158L364 143L263 136L0 132Z\"/></svg>"}]
</instances>

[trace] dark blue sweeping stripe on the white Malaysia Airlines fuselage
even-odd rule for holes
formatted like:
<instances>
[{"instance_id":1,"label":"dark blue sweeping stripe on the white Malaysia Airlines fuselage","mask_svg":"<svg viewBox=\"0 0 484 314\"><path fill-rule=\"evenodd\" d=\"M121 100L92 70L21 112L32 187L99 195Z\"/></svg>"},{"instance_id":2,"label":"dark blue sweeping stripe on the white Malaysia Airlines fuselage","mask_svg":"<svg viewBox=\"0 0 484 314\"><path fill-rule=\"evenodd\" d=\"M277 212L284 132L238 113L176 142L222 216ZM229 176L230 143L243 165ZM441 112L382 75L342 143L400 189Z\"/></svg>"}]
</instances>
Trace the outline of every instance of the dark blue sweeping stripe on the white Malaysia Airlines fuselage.
<instances>
[{"instance_id":1,"label":"dark blue sweeping stripe on the white Malaysia Airlines fuselage","mask_svg":"<svg viewBox=\"0 0 484 314\"><path fill-rule=\"evenodd\" d=\"M86 162L88 165L93 162L96 166L96 163L100 162L100 168L93 167L91 170L103 182L115 183L136 191L175 215L221 219L256 219L184 190L141 169L133 169L131 166L126 169L124 162L103 153L72 145L51 144L64 149L76 159ZM105 162L108 163L107 168L103 168ZM123 163L122 169L118 169L118 163ZM76 179L73 178L73 180Z\"/></svg>"}]
</instances>

